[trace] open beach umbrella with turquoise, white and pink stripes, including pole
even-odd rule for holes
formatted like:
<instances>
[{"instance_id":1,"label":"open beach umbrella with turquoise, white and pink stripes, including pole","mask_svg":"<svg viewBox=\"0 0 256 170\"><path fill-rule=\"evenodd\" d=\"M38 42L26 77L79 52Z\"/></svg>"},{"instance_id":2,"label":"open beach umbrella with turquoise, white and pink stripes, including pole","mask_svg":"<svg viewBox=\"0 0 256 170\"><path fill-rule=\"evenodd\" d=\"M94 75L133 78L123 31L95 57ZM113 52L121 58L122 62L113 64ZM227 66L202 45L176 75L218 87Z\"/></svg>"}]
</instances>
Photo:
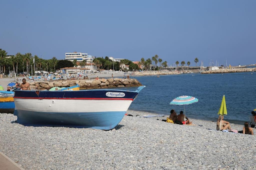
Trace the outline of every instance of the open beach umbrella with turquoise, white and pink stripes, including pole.
<instances>
[{"instance_id":1,"label":"open beach umbrella with turquoise, white and pink stripes, including pole","mask_svg":"<svg viewBox=\"0 0 256 170\"><path fill-rule=\"evenodd\" d=\"M170 104L172 105L184 105L184 121L186 120L185 105L198 102L198 99L192 96L179 96L173 99Z\"/></svg>"}]
</instances>

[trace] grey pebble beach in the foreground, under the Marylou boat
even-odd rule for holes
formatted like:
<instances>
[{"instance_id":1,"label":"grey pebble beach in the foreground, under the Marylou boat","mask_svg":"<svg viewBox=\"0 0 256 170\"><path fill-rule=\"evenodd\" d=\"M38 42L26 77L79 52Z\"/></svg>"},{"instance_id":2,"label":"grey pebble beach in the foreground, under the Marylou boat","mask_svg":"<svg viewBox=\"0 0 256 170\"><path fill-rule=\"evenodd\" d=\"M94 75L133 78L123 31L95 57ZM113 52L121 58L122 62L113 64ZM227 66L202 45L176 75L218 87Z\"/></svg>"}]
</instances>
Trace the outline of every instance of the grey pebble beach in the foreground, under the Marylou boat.
<instances>
[{"instance_id":1,"label":"grey pebble beach in the foreground, under the Marylou boat","mask_svg":"<svg viewBox=\"0 0 256 170\"><path fill-rule=\"evenodd\" d=\"M168 115L127 114L133 116L105 131L23 126L13 114L0 113L0 150L24 169L256 168L254 135L216 131L211 121L177 125L161 121ZM232 129L242 127L231 124Z\"/></svg>"}]
</instances>

